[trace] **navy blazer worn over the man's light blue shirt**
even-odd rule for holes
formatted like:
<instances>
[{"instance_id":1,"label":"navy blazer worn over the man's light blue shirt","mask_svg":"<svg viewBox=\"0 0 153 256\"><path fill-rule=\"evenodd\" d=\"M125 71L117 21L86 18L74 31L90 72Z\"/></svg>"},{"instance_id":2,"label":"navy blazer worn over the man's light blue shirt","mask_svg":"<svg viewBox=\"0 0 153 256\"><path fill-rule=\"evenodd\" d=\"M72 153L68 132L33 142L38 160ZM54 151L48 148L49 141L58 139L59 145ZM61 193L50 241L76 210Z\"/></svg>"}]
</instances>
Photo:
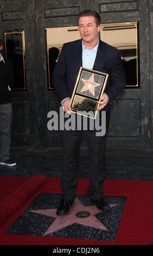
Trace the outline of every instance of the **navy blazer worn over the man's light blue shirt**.
<instances>
[{"instance_id":1,"label":"navy blazer worn over the man's light blue shirt","mask_svg":"<svg viewBox=\"0 0 153 256\"><path fill-rule=\"evenodd\" d=\"M60 102L66 97L71 98L80 66L82 66L82 40L63 44L53 74L54 88ZM105 93L109 96L109 102L113 101L126 85L126 75L120 58L120 51L99 40L93 70L109 74ZM109 104L103 111L108 110Z\"/></svg>"}]
</instances>

